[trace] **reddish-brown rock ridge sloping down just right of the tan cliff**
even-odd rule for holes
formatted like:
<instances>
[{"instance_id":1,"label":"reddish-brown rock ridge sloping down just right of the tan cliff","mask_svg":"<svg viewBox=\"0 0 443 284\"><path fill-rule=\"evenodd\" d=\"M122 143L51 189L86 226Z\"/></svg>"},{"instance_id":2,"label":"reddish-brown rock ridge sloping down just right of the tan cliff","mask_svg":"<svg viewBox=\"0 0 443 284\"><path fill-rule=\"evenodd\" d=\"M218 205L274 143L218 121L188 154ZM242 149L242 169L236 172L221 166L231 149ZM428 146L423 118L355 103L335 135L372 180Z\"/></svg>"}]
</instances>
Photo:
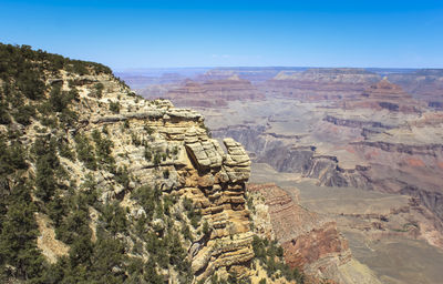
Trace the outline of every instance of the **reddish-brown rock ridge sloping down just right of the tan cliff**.
<instances>
[{"instance_id":1,"label":"reddish-brown rock ridge sloping down just right of the tan cliff","mask_svg":"<svg viewBox=\"0 0 443 284\"><path fill-rule=\"evenodd\" d=\"M260 194L268 207L272 232L292 267L317 278L337 283L379 283L372 272L356 266L347 240L336 222L309 212L275 184L248 184L249 194ZM347 275L358 277L350 278Z\"/></svg>"}]
</instances>

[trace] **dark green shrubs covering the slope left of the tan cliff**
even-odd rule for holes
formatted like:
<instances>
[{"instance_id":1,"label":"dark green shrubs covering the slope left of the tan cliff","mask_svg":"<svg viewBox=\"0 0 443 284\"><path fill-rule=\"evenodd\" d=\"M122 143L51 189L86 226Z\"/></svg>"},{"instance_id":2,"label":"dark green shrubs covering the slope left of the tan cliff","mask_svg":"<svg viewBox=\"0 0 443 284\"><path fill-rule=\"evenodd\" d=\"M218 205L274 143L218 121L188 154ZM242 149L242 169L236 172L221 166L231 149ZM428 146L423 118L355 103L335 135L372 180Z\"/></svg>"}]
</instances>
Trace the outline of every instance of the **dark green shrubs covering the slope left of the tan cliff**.
<instances>
[{"instance_id":1,"label":"dark green shrubs covering the slope left of the tan cliff","mask_svg":"<svg viewBox=\"0 0 443 284\"><path fill-rule=\"evenodd\" d=\"M110 171L123 187L132 179L126 169L116 168L106 129L69 139L66 130L76 126L80 100L73 82L69 91L56 81L48 83L61 72L112 74L102 64L0 44L0 282L164 283L161 271L168 266L179 272L183 283L189 282L190 266L169 211L182 206L177 200L140 187L134 200L147 217L130 220L117 202L97 200L101 189L92 175L78 184L62 165L63 158L93 171ZM103 84L94 88L101 97ZM27 135L31 125L34 140ZM38 212L50 217L56 240L70 247L55 263L38 248ZM99 215L94 231L91 212ZM151 227L147 219L153 217L164 226ZM133 247L124 244L126 239L133 240ZM145 252L147 260L142 257Z\"/></svg>"}]
</instances>

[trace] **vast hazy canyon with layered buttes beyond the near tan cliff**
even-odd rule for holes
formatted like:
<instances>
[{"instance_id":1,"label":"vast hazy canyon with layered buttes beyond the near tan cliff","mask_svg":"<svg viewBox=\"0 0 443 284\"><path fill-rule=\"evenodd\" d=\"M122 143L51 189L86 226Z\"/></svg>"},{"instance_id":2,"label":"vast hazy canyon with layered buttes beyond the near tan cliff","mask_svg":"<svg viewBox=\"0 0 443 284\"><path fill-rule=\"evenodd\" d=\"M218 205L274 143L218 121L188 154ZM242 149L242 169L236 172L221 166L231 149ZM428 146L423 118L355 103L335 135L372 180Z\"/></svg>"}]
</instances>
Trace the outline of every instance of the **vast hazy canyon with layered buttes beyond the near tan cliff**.
<instances>
[{"instance_id":1,"label":"vast hazy canyon with layered buttes beyond the near tan cliff","mask_svg":"<svg viewBox=\"0 0 443 284\"><path fill-rule=\"evenodd\" d=\"M244 95L230 79L248 85ZM440 70L222 68L192 80L137 92L196 108L214 138L231 136L245 146L253 161L251 182L272 182L309 214L331 220L316 225L310 235L295 234L297 245L279 236L291 223L275 221L285 224L274 230L290 255L288 263L301 264L308 272L309 264L302 263L316 266L319 258L302 252L303 243L312 247L309 237L317 237L334 253L349 245L349 255L382 283L439 282L437 267L443 264ZM202 85L217 80L226 82L223 93L202 91ZM162 88L167 91L150 92ZM274 197L266 191L282 194L261 186L258 191L269 204ZM297 212L288 213L295 214L293 222L305 214ZM297 224L303 227L305 222L309 224L306 220ZM414 255L414 260L394 262L390 255L399 260ZM425 263L426 272L414 263Z\"/></svg>"}]
</instances>

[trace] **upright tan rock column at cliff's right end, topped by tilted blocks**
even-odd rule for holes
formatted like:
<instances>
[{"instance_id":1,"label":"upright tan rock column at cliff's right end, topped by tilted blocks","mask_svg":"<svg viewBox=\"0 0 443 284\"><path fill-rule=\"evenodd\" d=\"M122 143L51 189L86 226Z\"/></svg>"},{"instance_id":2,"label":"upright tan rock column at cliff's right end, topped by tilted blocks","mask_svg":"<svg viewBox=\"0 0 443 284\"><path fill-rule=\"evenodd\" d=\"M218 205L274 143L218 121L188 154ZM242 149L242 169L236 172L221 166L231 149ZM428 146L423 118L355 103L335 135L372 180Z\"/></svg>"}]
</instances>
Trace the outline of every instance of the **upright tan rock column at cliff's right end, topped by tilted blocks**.
<instances>
[{"instance_id":1,"label":"upright tan rock column at cliff's right end, topped by tilted blocks","mask_svg":"<svg viewBox=\"0 0 443 284\"><path fill-rule=\"evenodd\" d=\"M195 181L190 196L213 229L196 241L198 245L193 250L192 267L197 278L206 278L220 267L246 276L248 265L244 264L254 257L244 197L250 161L239 143L231 139L224 143L227 154L216 140L189 129L185 146L192 166L178 171L185 181Z\"/></svg>"}]
</instances>

